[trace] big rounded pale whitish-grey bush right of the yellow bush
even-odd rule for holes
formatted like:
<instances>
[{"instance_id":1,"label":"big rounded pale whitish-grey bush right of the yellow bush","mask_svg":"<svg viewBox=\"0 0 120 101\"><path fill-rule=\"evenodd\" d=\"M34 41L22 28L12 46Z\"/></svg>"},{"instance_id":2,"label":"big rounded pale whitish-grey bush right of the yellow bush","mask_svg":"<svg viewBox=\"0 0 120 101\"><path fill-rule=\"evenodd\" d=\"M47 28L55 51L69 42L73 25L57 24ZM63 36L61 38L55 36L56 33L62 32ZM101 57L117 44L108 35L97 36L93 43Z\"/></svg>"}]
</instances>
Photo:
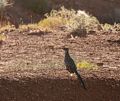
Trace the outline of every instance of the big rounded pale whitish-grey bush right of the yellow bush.
<instances>
[{"instance_id":1,"label":"big rounded pale whitish-grey bush right of the yellow bush","mask_svg":"<svg viewBox=\"0 0 120 101\"><path fill-rule=\"evenodd\" d=\"M90 31L98 30L100 25L99 21L87 14L85 11L78 10L75 16L72 18L73 23L70 23L68 27L70 28L72 34L87 34Z\"/></svg>"}]
</instances>

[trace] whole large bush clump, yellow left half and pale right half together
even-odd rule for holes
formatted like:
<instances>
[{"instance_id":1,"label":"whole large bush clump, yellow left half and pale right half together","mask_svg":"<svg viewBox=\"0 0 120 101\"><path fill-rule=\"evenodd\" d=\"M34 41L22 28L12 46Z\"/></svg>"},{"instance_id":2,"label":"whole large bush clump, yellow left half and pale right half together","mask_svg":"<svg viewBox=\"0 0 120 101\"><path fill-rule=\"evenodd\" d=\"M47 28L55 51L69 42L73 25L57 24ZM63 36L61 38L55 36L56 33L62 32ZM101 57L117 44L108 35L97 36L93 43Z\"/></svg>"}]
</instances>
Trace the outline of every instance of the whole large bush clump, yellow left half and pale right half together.
<instances>
[{"instance_id":1,"label":"whole large bush clump, yellow left half and pale right half together","mask_svg":"<svg viewBox=\"0 0 120 101\"><path fill-rule=\"evenodd\" d=\"M45 19L39 22L40 26L66 26L70 32L89 33L91 30L97 29L99 21L84 11L68 10L61 7L58 11L52 10L50 14L45 14Z\"/></svg>"}]
</instances>

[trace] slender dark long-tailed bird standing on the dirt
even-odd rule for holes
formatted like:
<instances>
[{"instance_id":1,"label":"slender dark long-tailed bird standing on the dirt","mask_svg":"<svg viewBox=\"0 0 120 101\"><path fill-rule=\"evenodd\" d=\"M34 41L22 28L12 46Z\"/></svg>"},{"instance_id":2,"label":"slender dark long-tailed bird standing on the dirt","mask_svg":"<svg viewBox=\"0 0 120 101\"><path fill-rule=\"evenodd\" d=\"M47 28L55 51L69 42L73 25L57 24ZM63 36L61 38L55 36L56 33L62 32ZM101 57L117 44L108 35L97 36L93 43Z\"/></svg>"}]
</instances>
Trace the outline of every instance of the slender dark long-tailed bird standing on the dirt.
<instances>
[{"instance_id":1,"label":"slender dark long-tailed bird standing on the dirt","mask_svg":"<svg viewBox=\"0 0 120 101\"><path fill-rule=\"evenodd\" d=\"M80 74L77 71L77 67L75 65L75 62L69 54L69 48L62 48L62 49L65 51L64 63L65 63L65 66L66 66L66 70L68 70L71 74L75 73L78 80L80 81L80 84L82 85L82 87L84 89L86 89L85 83L84 83L82 77L80 76Z\"/></svg>"}]
</instances>

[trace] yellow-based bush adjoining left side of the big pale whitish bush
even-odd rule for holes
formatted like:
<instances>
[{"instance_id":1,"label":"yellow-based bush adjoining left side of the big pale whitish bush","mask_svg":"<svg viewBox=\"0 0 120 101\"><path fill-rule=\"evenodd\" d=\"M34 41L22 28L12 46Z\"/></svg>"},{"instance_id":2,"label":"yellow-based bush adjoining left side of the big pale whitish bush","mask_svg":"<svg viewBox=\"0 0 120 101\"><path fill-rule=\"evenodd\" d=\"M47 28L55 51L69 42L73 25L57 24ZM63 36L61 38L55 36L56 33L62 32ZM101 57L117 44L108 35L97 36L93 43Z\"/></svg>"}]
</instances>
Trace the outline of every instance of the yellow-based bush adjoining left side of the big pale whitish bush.
<instances>
[{"instance_id":1,"label":"yellow-based bush adjoining left side of the big pale whitish bush","mask_svg":"<svg viewBox=\"0 0 120 101\"><path fill-rule=\"evenodd\" d=\"M45 17L38 24L42 27L56 28L60 26L67 25L71 23L73 10L67 10L64 7L61 7L60 10L52 10L50 14L45 14Z\"/></svg>"}]
</instances>

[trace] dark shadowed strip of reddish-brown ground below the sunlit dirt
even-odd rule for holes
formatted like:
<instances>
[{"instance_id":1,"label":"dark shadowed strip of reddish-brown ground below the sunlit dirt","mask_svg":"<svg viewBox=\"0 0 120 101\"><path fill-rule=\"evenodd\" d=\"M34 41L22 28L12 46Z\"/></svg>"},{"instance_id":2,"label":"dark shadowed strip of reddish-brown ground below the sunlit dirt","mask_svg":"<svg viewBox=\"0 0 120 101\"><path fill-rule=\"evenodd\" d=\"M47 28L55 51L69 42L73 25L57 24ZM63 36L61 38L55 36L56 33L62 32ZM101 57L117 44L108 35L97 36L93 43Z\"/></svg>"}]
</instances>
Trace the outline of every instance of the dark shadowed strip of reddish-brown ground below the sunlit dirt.
<instances>
[{"instance_id":1,"label":"dark shadowed strip of reddish-brown ground below the sunlit dirt","mask_svg":"<svg viewBox=\"0 0 120 101\"><path fill-rule=\"evenodd\" d=\"M76 78L34 77L33 75L19 79L2 77L0 79L0 101L120 100L120 80L89 77L85 79L85 82L87 90L79 85Z\"/></svg>"}]
</instances>

